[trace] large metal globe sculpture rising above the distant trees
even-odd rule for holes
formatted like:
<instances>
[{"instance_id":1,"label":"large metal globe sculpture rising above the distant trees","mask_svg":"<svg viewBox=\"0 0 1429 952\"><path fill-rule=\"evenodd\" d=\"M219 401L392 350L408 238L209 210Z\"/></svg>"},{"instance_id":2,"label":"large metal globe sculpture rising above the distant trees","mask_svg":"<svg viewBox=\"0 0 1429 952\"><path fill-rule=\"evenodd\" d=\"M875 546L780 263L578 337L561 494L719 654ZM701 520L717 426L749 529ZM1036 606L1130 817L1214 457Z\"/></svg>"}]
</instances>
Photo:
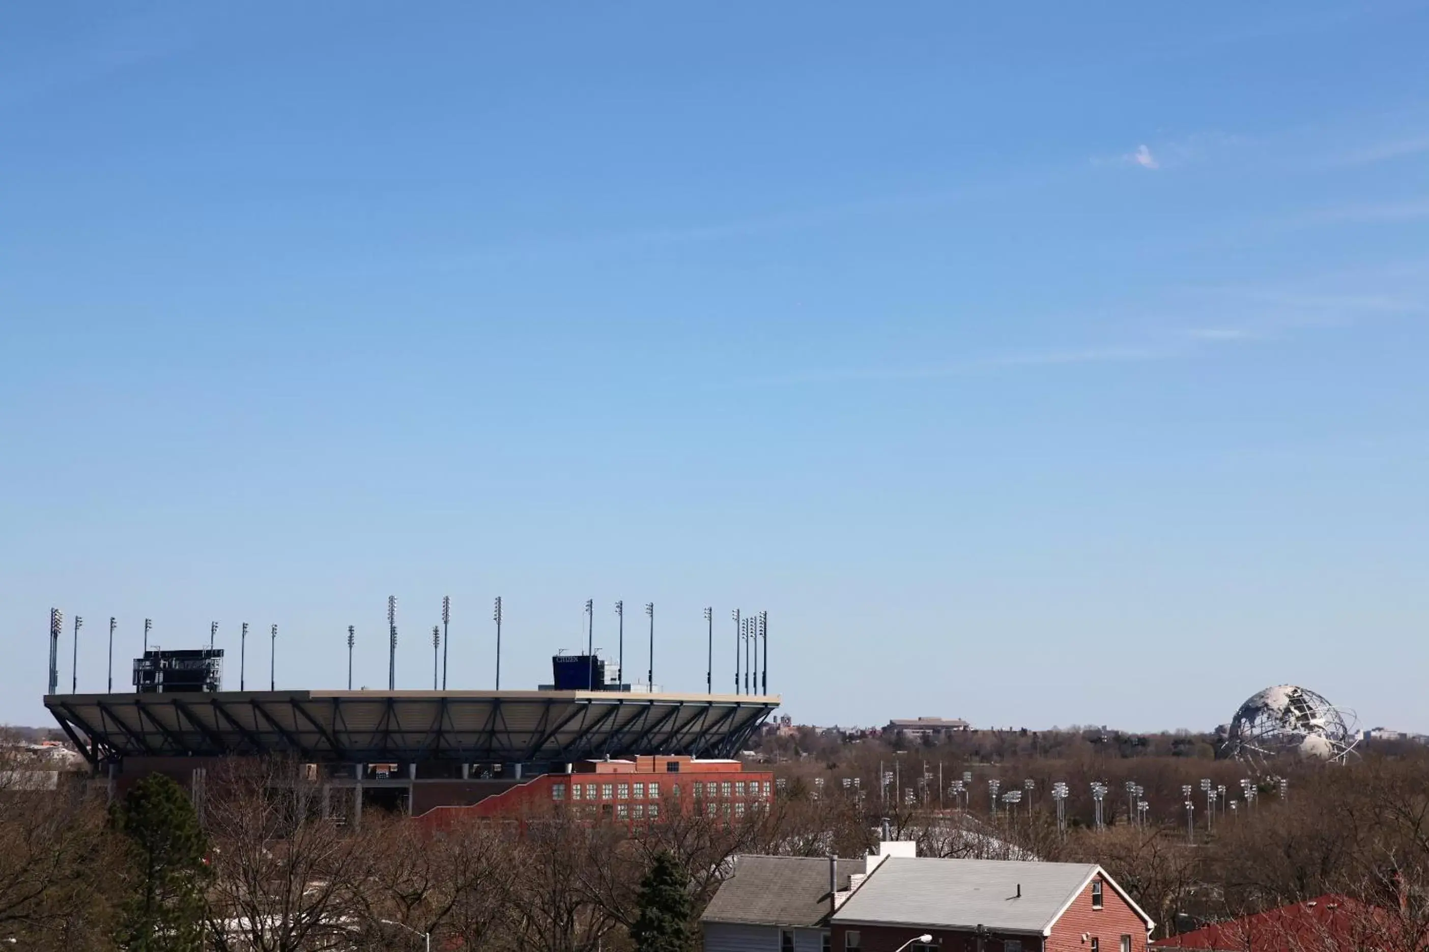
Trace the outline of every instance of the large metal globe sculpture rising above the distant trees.
<instances>
[{"instance_id":1,"label":"large metal globe sculpture rising above the distant trees","mask_svg":"<svg viewBox=\"0 0 1429 952\"><path fill-rule=\"evenodd\" d=\"M1250 766L1282 756L1343 764L1355 751L1355 712L1309 688L1280 684L1240 705L1230 721L1226 752Z\"/></svg>"}]
</instances>

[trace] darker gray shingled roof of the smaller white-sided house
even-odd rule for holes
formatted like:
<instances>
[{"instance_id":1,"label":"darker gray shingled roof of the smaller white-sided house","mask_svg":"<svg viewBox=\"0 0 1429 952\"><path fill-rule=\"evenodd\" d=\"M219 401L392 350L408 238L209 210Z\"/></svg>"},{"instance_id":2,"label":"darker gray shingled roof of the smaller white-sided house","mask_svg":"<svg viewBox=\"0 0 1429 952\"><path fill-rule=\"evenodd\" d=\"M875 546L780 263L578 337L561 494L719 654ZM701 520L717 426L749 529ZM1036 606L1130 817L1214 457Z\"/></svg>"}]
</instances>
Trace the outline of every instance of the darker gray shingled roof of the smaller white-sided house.
<instances>
[{"instance_id":1,"label":"darker gray shingled roof of the smaller white-sided house","mask_svg":"<svg viewBox=\"0 0 1429 952\"><path fill-rule=\"evenodd\" d=\"M839 889L849 873L863 872L862 859L837 861ZM829 915L829 859L825 856L736 856L702 922L816 926Z\"/></svg>"}]
</instances>

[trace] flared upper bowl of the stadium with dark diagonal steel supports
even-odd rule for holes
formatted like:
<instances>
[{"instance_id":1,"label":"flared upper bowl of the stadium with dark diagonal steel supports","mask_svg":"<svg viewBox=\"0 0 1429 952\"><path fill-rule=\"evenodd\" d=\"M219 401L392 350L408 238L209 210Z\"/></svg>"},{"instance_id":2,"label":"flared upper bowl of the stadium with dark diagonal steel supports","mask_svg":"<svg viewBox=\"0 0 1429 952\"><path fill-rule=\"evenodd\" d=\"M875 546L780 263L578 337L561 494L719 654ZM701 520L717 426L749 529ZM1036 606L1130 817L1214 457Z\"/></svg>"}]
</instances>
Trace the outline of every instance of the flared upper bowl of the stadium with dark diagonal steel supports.
<instances>
[{"instance_id":1,"label":"flared upper bowl of the stadium with dark diagonal steel supports","mask_svg":"<svg viewBox=\"0 0 1429 952\"><path fill-rule=\"evenodd\" d=\"M44 705L91 764L299 755L309 762L573 762L735 756L777 697L613 691L56 694Z\"/></svg>"}]
</instances>

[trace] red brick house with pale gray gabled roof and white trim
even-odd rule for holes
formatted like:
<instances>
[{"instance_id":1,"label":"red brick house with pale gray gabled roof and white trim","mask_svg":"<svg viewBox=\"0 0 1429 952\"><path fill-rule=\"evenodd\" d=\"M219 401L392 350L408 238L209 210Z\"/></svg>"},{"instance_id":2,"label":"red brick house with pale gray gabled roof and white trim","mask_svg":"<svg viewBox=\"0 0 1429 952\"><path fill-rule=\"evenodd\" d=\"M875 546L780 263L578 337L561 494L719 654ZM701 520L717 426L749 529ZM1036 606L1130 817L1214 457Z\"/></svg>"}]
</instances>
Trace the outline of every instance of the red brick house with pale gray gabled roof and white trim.
<instances>
[{"instance_id":1,"label":"red brick house with pale gray gabled roof and white trim","mask_svg":"<svg viewBox=\"0 0 1429 952\"><path fill-rule=\"evenodd\" d=\"M1147 952L1155 926L1095 864L933 858L879 864L830 923L832 952Z\"/></svg>"}]
</instances>

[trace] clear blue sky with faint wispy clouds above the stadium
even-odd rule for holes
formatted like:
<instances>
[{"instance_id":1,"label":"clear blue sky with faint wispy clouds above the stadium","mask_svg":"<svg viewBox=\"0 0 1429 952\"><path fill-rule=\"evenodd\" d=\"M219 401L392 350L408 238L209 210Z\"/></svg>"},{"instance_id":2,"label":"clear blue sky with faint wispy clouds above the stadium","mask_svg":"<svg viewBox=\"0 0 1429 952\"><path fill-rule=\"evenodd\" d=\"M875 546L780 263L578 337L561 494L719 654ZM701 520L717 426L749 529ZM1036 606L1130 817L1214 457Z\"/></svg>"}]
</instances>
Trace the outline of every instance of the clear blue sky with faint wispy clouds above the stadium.
<instances>
[{"instance_id":1,"label":"clear blue sky with faint wispy clouds above the stadium","mask_svg":"<svg viewBox=\"0 0 1429 952\"><path fill-rule=\"evenodd\" d=\"M7 4L0 721L733 679L797 721L1429 731L1429 10ZM70 682L70 628L61 684Z\"/></svg>"}]
</instances>

